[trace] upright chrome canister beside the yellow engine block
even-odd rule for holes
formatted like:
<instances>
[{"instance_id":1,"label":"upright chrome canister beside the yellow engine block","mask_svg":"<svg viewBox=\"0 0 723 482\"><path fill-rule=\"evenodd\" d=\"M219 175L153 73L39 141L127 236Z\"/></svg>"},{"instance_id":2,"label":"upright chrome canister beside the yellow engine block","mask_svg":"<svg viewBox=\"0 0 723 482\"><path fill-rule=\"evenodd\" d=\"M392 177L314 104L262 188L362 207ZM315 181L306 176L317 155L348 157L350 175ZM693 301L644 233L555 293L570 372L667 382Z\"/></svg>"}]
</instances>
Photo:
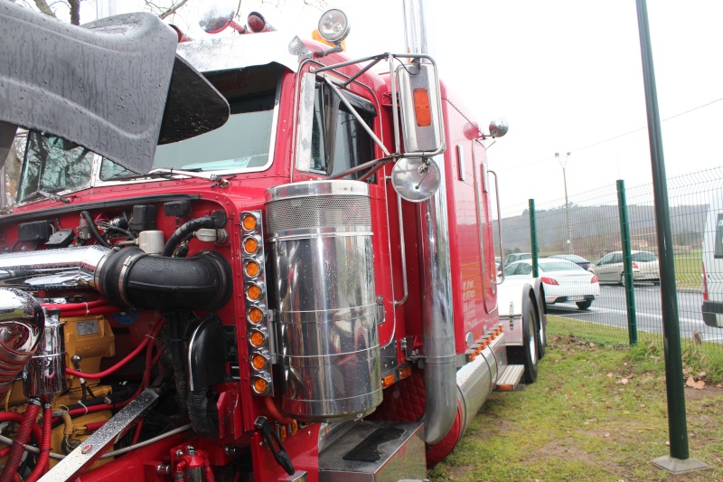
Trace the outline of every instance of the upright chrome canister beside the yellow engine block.
<instances>
[{"instance_id":1,"label":"upright chrome canister beside the yellow engine block","mask_svg":"<svg viewBox=\"0 0 723 482\"><path fill-rule=\"evenodd\" d=\"M65 392L68 383L65 378L65 340L57 309L45 313L43 330L33 360L25 365L23 392L26 397L56 395Z\"/></svg>"}]
</instances>

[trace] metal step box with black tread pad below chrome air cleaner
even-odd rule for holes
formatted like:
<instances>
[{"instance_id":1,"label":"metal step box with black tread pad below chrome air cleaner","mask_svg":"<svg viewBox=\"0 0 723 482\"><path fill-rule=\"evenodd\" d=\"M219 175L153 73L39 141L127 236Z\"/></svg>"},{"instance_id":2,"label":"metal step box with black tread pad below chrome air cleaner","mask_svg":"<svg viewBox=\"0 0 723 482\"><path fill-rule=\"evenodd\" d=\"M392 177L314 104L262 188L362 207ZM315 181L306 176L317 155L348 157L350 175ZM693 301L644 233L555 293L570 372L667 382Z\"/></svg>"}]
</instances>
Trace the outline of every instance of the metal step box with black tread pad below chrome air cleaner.
<instances>
[{"instance_id":1,"label":"metal step box with black tread pad below chrome air cleaner","mask_svg":"<svg viewBox=\"0 0 723 482\"><path fill-rule=\"evenodd\" d=\"M321 482L398 482L427 479L421 422L361 421L319 456ZM384 437L386 435L386 437ZM362 444L362 457L354 457ZM371 456L371 451L374 457ZM365 459L366 458L366 459ZM370 458L376 458L371 461Z\"/></svg>"}]
</instances>

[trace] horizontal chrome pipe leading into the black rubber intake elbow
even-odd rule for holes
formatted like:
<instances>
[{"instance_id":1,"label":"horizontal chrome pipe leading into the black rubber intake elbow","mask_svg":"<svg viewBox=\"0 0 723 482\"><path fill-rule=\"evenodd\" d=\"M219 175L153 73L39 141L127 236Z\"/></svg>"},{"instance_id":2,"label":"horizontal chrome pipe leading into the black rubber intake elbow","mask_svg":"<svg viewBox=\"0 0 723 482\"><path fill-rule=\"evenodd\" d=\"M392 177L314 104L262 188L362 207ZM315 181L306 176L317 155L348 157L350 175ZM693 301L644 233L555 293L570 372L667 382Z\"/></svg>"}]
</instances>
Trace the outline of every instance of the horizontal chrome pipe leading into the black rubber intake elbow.
<instances>
[{"instance_id":1,"label":"horizontal chrome pipe leading into the black rubber intake elbow","mask_svg":"<svg viewBox=\"0 0 723 482\"><path fill-rule=\"evenodd\" d=\"M53 283L61 283L59 286L63 288L93 287L93 274L109 252L108 248L93 245L0 254L0 284L37 288L39 283L33 284L31 279L46 277L40 285L54 286Z\"/></svg>"}]
</instances>

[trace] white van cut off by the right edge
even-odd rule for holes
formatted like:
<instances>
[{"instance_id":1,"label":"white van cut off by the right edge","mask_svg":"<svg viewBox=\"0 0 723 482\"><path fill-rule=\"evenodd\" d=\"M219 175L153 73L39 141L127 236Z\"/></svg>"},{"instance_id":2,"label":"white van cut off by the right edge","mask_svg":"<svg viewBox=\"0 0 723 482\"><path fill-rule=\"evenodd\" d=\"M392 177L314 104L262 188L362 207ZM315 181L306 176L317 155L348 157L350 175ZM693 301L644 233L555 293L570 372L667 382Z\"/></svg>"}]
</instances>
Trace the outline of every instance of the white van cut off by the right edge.
<instances>
[{"instance_id":1,"label":"white van cut off by the right edge","mask_svg":"<svg viewBox=\"0 0 723 482\"><path fill-rule=\"evenodd\" d=\"M703 322L723 328L723 199L711 200L703 233Z\"/></svg>"}]
</instances>

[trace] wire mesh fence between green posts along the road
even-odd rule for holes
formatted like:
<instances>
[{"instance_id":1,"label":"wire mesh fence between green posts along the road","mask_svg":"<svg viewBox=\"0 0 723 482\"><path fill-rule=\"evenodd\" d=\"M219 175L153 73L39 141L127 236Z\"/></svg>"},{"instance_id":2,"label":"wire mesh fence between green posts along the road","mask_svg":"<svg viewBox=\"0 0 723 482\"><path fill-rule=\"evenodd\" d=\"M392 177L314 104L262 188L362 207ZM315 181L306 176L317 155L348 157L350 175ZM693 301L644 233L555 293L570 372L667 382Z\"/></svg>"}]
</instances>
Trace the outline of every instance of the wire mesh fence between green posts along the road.
<instances>
[{"instance_id":1,"label":"wire mesh fence between green posts along the road","mask_svg":"<svg viewBox=\"0 0 723 482\"><path fill-rule=\"evenodd\" d=\"M637 333L645 343L662 345L661 293L658 279L644 277L641 271L652 253L658 255L655 236L653 185L623 183L588 189L564 199L541 200L502 208L502 240L504 255L532 252L530 208L534 206L536 238L540 258L555 254L574 254L591 263L595 272L605 273L600 295L588 309L579 309L574 302L549 306L553 331L563 333L583 330L588 336L599 335L601 341L628 344L634 341L629 324L635 322ZM619 193L622 187L622 193ZM723 166L668 179L671 205L671 226L674 237L675 277L678 288L678 307L681 337L686 343L712 345L723 352L723 328L703 323L702 254L704 241L715 237L715 226L706 226L709 206L723 213ZM620 195L626 200L621 211ZM624 245L622 232L629 233L633 287L626 297L623 275ZM568 221L569 220L569 221ZM627 221L627 222L625 222ZM496 233L495 233L496 234ZM712 237L712 238L711 238ZM712 242L710 244L712 246ZM712 248L709 246L708 250ZM619 271L606 271L599 261L619 257ZM615 264L615 263L613 263ZM723 259L720 260L723 266ZM609 268L609 267L607 267ZM721 277L717 267L708 268L708 277ZM540 273L544 276L544 273ZM660 276L665 276L662 273ZM710 283L709 283L710 285ZM718 288L716 288L718 289ZM710 286L709 286L710 291ZM709 293L723 301L723 293ZM630 310L626 303L632 302ZM634 319L632 318L634 315ZM615 327L617 329L611 329Z\"/></svg>"}]
</instances>

